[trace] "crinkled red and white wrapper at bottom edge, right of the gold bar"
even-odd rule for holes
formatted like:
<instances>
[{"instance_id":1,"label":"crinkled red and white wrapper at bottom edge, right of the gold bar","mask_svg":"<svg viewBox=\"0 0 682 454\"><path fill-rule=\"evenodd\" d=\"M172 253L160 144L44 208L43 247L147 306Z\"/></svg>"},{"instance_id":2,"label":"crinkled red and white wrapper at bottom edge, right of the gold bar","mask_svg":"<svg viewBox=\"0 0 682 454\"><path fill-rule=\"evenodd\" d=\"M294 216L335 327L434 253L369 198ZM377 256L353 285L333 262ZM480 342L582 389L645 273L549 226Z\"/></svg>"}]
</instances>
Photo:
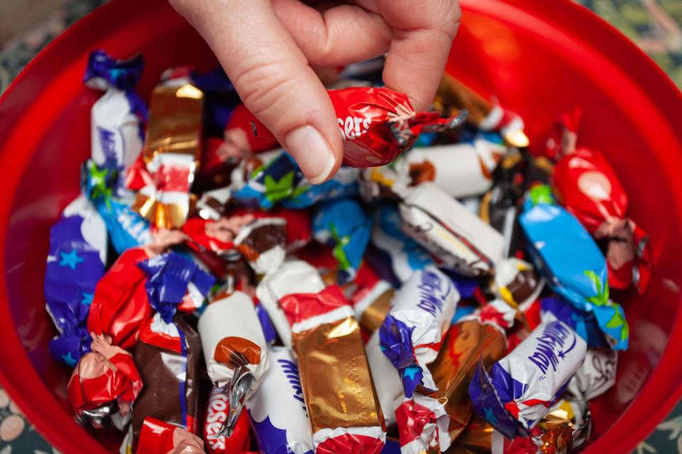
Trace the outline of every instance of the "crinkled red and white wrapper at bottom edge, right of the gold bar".
<instances>
[{"instance_id":1,"label":"crinkled red and white wrapper at bottom edge, right of the gold bar","mask_svg":"<svg viewBox=\"0 0 682 454\"><path fill-rule=\"evenodd\" d=\"M422 454L449 448L450 417L442 402L415 394L395 409L400 436L400 454Z\"/></svg>"}]
</instances>

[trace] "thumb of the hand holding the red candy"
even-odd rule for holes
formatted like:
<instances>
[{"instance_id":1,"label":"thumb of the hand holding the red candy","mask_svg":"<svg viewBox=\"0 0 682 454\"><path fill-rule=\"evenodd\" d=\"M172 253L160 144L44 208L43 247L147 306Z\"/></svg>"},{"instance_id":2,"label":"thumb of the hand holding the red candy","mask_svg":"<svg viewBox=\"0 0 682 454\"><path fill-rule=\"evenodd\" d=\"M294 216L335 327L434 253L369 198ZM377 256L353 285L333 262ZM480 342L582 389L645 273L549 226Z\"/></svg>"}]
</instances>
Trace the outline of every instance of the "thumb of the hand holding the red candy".
<instances>
[{"instance_id":1,"label":"thumb of the hand holding the red candy","mask_svg":"<svg viewBox=\"0 0 682 454\"><path fill-rule=\"evenodd\" d=\"M244 104L311 183L334 175L343 141L324 86L269 0L171 0L211 46Z\"/></svg>"}]
</instances>

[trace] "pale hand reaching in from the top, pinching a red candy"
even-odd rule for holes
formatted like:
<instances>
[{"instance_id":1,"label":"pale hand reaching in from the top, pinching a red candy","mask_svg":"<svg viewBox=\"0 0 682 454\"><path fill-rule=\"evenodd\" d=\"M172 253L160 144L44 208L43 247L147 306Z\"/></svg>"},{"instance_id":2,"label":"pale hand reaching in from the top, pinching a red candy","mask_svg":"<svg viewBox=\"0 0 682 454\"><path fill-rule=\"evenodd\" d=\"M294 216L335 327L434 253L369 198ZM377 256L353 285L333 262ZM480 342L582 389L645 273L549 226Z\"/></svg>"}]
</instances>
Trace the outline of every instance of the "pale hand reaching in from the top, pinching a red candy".
<instances>
[{"instance_id":1,"label":"pale hand reaching in from the top, pinching a red candy","mask_svg":"<svg viewBox=\"0 0 682 454\"><path fill-rule=\"evenodd\" d=\"M313 68L386 54L385 84L418 111L435 95L459 27L458 0L170 0L220 60L246 106L311 183L331 178L343 141Z\"/></svg>"}]
</instances>

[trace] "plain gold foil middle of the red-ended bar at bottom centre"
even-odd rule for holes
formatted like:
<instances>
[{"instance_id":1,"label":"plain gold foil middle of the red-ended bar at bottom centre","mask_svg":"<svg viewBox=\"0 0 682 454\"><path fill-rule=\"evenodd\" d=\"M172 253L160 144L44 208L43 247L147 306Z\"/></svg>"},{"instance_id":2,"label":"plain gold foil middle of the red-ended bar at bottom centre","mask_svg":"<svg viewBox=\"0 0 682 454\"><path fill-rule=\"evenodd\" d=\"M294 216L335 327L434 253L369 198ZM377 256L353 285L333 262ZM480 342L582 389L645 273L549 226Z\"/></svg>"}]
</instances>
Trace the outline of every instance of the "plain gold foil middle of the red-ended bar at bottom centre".
<instances>
[{"instance_id":1,"label":"plain gold foil middle of the red-ended bar at bottom centre","mask_svg":"<svg viewBox=\"0 0 682 454\"><path fill-rule=\"evenodd\" d=\"M313 433L383 427L360 327L348 317L292 336Z\"/></svg>"}]
</instances>

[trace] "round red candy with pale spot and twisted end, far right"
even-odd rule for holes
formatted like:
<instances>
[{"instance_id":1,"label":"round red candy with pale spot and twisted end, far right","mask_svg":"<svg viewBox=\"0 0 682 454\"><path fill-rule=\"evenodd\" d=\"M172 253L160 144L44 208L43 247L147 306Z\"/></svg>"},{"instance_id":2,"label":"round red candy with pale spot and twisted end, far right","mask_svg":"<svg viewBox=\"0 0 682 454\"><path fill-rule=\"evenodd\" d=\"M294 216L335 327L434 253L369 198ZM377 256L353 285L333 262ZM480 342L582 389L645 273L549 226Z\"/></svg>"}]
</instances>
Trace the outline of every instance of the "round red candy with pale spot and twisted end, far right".
<instances>
[{"instance_id":1,"label":"round red candy with pale spot and twisted end, far right","mask_svg":"<svg viewBox=\"0 0 682 454\"><path fill-rule=\"evenodd\" d=\"M602 153L577 148L554 167L554 188L562 205L595 239L609 240L609 286L631 284L641 295L651 280L649 235L627 217L628 196Z\"/></svg>"}]
</instances>

